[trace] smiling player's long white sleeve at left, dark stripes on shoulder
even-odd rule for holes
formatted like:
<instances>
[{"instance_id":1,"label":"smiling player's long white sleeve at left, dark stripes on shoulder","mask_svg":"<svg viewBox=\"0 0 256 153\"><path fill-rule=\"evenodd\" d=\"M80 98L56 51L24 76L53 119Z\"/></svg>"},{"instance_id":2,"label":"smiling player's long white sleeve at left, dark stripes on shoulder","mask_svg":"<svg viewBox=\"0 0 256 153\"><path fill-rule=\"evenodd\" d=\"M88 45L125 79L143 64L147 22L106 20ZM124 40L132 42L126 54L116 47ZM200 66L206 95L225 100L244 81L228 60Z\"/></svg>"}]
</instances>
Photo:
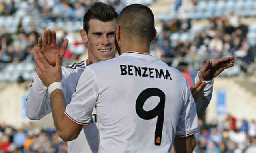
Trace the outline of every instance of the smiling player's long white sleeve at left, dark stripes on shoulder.
<instances>
[{"instance_id":1,"label":"smiling player's long white sleeve at left, dark stripes on shoulder","mask_svg":"<svg viewBox=\"0 0 256 153\"><path fill-rule=\"evenodd\" d=\"M61 67L61 88L66 104L71 101L71 96L76 89L78 78L84 70L84 67L84 61ZM31 120L40 120L50 112L52 112L52 108L48 88L44 86L42 80L35 72L26 100L26 116Z\"/></svg>"}]
</instances>

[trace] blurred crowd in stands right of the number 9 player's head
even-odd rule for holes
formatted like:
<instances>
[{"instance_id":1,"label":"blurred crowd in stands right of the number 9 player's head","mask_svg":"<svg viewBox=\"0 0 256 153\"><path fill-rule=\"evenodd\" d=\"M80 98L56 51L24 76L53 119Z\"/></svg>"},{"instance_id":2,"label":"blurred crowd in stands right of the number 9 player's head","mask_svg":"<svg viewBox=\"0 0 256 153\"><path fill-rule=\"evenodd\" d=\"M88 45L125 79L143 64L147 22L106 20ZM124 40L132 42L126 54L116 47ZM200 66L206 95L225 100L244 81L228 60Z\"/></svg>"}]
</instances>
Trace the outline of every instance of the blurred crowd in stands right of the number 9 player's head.
<instances>
[{"instance_id":1,"label":"blurred crowd in stands right of the number 9 player's head","mask_svg":"<svg viewBox=\"0 0 256 153\"><path fill-rule=\"evenodd\" d=\"M248 26L240 18L231 13L227 17L212 16L208 20L209 24L201 29L191 29L191 20L186 17L165 21L154 47L162 57L180 57L181 62L186 63L188 60L225 56L235 56L248 65L254 62L256 48L248 41ZM183 33L190 35L184 40L178 36L174 38Z\"/></svg>"}]
</instances>

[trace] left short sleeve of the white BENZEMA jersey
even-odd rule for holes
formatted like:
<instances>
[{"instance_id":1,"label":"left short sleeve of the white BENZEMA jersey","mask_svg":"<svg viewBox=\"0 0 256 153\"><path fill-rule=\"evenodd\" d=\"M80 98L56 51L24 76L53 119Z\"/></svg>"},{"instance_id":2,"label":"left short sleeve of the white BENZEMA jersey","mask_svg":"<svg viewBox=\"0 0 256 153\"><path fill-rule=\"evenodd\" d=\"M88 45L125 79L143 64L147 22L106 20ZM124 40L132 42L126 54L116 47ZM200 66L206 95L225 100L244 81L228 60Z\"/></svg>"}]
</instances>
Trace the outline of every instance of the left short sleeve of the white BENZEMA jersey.
<instances>
[{"instance_id":1,"label":"left short sleeve of the white BENZEMA jersey","mask_svg":"<svg viewBox=\"0 0 256 153\"><path fill-rule=\"evenodd\" d=\"M98 83L90 68L86 67L78 80L76 92L74 92L70 104L66 107L66 116L77 124L90 124L92 110L96 106L98 95Z\"/></svg>"}]
</instances>

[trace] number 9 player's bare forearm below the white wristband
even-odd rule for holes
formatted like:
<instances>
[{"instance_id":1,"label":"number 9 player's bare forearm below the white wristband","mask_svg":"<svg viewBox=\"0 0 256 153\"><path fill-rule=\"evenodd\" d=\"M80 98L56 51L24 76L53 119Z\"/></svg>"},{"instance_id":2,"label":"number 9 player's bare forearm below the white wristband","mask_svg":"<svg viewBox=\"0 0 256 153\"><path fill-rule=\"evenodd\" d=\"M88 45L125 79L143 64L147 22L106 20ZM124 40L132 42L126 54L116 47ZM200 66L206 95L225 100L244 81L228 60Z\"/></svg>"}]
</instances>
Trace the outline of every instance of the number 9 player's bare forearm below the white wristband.
<instances>
[{"instance_id":1,"label":"number 9 player's bare forearm below the white wristband","mask_svg":"<svg viewBox=\"0 0 256 153\"><path fill-rule=\"evenodd\" d=\"M82 126L74 124L74 122L64 114L66 110L66 103L63 98L62 90L54 90L50 94L50 99L52 104L52 117L54 125L58 131L58 135L64 141L76 139L82 129Z\"/></svg>"}]
</instances>

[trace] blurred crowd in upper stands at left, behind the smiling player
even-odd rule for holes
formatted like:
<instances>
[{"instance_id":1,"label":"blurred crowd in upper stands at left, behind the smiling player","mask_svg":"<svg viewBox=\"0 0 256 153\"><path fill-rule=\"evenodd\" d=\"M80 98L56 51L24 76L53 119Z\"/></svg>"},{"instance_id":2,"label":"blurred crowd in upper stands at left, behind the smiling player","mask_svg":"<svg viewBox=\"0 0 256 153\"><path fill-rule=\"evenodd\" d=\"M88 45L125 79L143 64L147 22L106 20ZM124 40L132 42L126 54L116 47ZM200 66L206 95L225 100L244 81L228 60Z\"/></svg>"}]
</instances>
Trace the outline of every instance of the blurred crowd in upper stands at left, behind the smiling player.
<instances>
[{"instance_id":1,"label":"blurred crowd in upper stands at left, behind the smiling player","mask_svg":"<svg viewBox=\"0 0 256 153\"><path fill-rule=\"evenodd\" d=\"M18 12L18 9L26 8L26 15L40 14L43 22L58 20L76 21L82 24L82 18L88 7L98 0L4 0L0 1L0 16L11 16ZM124 7L120 0L102 0L102 2L113 5L117 12ZM21 6L17 6L17 4ZM29 11L30 9L30 11ZM28 27L28 28L27 28ZM82 28L82 27L80 27ZM8 27L0 29L0 63L18 63L20 61L33 61L31 51L36 49L38 37L42 36L44 28L40 25L24 24L20 19L18 27L14 33L8 32ZM69 49L66 51L64 60L76 60L84 53L86 46L82 43L79 31L68 31L54 26L58 46L61 47L64 39L69 40Z\"/></svg>"}]
</instances>

